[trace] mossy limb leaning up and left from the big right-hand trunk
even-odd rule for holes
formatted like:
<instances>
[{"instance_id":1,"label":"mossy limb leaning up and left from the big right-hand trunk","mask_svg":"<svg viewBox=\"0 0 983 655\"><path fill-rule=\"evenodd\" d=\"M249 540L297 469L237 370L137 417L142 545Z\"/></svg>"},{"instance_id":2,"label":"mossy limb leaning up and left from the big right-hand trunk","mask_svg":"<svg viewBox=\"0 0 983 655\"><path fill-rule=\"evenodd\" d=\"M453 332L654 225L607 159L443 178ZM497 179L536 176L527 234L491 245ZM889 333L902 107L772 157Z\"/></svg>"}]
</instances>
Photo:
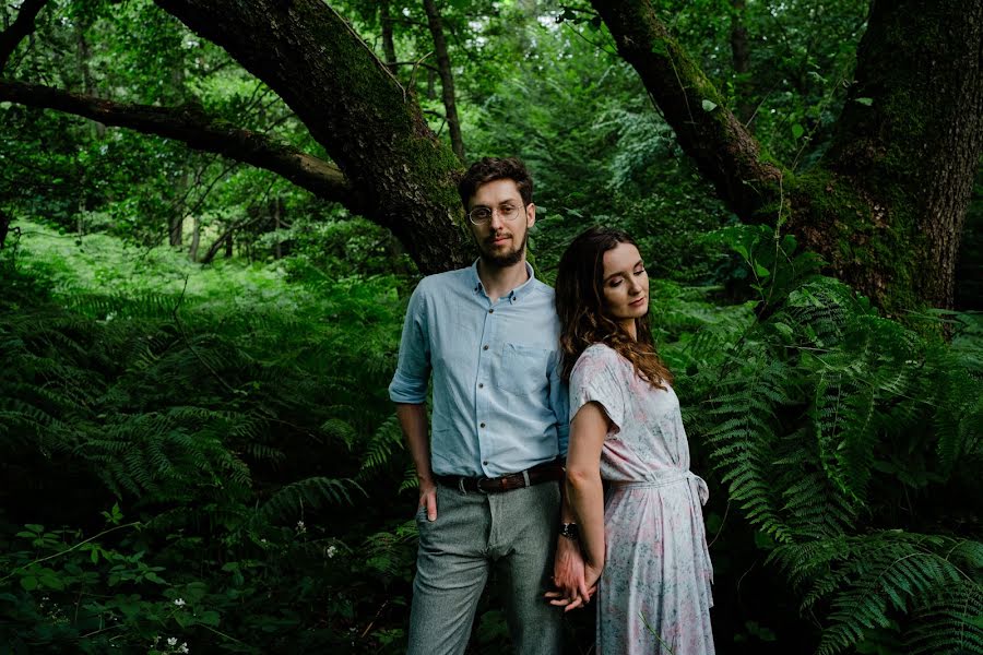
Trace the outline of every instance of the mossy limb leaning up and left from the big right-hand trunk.
<instances>
[{"instance_id":1,"label":"mossy limb leaning up and left from the big right-hand trunk","mask_svg":"<svg viewBox=\"0 0 983 655\"><path fill-rule=\"evenodd\" d=\"M778 196L781 169L760 156L760 145L724 106L646 0L592 0L618 53L641 78L666 122L718 195L746 221L759 218Z\"/></svg>"}]
</instances>

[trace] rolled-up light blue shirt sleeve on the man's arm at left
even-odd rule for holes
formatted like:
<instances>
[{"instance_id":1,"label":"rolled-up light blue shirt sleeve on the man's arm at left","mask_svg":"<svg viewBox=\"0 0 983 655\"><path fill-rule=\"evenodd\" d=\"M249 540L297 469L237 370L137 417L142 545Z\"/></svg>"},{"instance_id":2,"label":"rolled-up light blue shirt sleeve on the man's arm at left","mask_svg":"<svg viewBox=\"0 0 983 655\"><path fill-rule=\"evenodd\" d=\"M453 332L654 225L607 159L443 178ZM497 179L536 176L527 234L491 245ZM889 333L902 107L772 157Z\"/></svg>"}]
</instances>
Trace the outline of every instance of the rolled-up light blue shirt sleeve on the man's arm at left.
<instances>
[{"instance_id":1,"label":"rolled-up light blue shirt sleeve on the man's arm at left","mask_svg":"<svg viewBox=\"0 0 983 655\"><path fill-rule=\"evenodd\" d=\"M427 402L430 340L427 330L425 282L426 279L417 285L410 296L410 306L406 308L399 362L389 384L389 397L393 403L422 405Z\"/></svg>"}]
</instances>

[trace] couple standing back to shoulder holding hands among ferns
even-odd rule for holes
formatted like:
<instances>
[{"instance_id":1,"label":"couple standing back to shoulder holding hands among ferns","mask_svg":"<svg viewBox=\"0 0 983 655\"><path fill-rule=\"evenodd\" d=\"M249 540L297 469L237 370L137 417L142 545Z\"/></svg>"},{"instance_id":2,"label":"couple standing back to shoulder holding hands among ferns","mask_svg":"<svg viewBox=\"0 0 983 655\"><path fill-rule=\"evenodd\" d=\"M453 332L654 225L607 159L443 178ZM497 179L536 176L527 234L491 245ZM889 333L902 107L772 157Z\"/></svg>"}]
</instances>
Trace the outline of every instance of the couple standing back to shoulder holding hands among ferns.
<instances>
[{"instance_id":1,"label":"couple standing back to shoulder holding hands among ferns","mask_svg":"<svg viewBox=\"0 0 983 655\"><path fill-rule=\"evenodd\" d=\"M525 261L522 163L482 159L459 191L481 257L419 283L389 388L419 478L408 653L463 653L493 570L517 653L561 653L592 599L599 655L713 653L707 485L637 246L588 229L554 293Z\"/></svg>"}]
</instances>

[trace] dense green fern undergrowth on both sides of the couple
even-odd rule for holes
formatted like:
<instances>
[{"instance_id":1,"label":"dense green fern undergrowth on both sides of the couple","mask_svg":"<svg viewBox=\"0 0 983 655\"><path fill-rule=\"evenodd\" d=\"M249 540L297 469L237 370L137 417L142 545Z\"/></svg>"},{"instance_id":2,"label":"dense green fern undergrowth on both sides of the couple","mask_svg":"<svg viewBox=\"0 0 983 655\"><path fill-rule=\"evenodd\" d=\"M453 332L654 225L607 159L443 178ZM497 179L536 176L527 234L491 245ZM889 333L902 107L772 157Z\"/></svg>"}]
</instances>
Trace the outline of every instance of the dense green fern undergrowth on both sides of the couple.
<instances>
[{"instance_id":1,"label":"dense green fern undergrowth on both sides of the couple","mask_svg":"<svg viewBox=\"0 0 983 655\"><path fill-rule=\"evenodd\" d=\"M979 317L902 325L791 239L710 240L753 299L653 281L652 315L711 487L718 650L983 651ZM401 652L415 492L386 388L412 281L40 242L0 252L0 644ZM495 607L474 652L505 647ZM589 616L569 629L588 652Z\"/></svg>"}]
</instances>

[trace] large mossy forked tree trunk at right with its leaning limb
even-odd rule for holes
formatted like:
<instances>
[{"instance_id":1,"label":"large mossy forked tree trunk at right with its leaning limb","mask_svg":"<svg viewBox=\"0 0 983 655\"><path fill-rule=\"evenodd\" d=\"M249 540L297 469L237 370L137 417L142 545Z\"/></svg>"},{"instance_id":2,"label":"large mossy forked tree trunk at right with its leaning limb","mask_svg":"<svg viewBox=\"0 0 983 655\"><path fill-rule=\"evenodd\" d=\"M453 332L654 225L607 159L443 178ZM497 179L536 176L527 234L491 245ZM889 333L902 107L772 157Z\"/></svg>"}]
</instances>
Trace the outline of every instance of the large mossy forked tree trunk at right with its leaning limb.
<instances>
[{"instance_id":1,"label":"large mossy forked tree trunk at right with its leaning limb","mask_svg":"<svg viewBox=\"0 0 983 655\"><path fill-rule=\"evenodd\" d=\"M950 308L983 152L983 0L875 0L834 144L795 175L760 156L647 0L593 2L684 150L746 222L783 224L888 314ZM952 47L959 44L958 47Z\"/></svg>"}]
</instances>

